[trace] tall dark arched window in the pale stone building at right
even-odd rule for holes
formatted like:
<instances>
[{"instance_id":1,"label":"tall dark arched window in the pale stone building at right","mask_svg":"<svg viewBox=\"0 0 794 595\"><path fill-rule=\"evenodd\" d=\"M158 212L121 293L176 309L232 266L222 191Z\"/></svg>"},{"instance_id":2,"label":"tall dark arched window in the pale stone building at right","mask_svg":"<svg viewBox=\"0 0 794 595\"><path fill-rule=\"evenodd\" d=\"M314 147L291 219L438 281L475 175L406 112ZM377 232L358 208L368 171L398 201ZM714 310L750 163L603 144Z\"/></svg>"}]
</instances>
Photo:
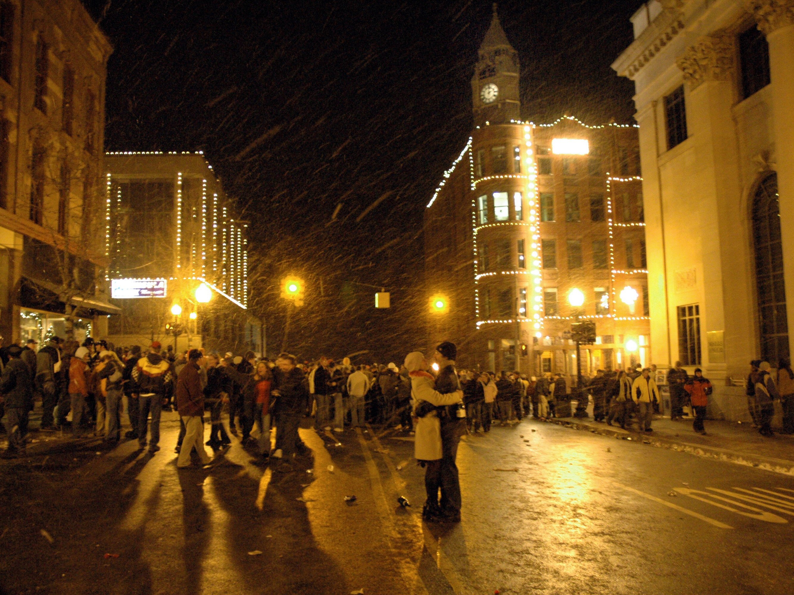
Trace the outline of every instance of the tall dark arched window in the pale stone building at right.
<instances>
[{"instance_id":1,"label":"tall dark arched window in the pale stone building at right","mask_svg":"<svg viewBox=\"0 0 794 595\"><path fill-rule=\"evenodd\" d=\"M753 243L761 358L777 363L778 359L788 358L788 320L777 174L764 178L755 191Z\"/></svg>"}]
</instances>

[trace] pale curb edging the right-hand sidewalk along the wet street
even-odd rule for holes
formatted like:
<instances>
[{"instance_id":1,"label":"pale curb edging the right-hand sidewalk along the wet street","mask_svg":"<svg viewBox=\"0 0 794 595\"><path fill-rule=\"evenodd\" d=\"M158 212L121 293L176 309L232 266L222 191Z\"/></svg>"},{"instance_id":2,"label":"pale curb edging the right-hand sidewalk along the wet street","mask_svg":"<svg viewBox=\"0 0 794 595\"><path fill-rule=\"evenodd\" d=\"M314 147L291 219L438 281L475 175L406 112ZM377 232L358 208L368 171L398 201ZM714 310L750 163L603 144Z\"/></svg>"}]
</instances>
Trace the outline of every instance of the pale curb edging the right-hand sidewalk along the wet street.
<instances>
[{"instance_id":1,"label":"pale curb edging the right-hand sidewalk along the wet street","mask_svg":"<svg viewBox=\"0 0 794 595\"><path fill-rule=\"evenodd\" d=\"M633 440L634 442L649 444L657 448L687 452L690 455L696 455L706 459L717 459L727 463L734 463L735 465L751 466L757 469L771 471L772 473L794 477L794 461L785 459L773 459L772 457L760 455L746 455L745 453L730 451L727 448L708 447L702 444L683 442L681 440L660 438L659 436L640 436L633 432L617 432L608 426L607 428L592 428L592 426L587 424L581 424L580 422L567 419L547 419L546 422L561 425L565 428L572 428L574 430L584 430L592 434L599 434L600 436L611 436L617 440Z\"/></svg>"}]
</instances>

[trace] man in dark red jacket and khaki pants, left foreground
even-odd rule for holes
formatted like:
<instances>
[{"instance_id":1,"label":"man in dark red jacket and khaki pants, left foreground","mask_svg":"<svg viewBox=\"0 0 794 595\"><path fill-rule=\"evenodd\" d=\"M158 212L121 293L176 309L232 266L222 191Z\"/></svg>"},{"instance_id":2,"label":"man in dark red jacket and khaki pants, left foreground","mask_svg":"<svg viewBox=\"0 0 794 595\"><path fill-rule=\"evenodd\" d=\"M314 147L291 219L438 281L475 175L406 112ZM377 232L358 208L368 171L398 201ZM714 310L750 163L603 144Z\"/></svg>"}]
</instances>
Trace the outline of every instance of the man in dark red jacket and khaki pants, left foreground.
<instances>
[{"instance_id":1,"label":"man in dark red jacket and khaki pants, left foreground","mask_svg":"<svg viewBox=\"0 0 794 595\"><path fill-rule=\"evenodd\" d=\"M196 449L202 465L210 463L210 457L204 450L204 390L199 373L201 351L191 349L187 354L187 364L179 372L176 379L176 407L185 424L185 438L176 466L179 469L191 466L191 450Z\"/></svg>"}]
</instances>

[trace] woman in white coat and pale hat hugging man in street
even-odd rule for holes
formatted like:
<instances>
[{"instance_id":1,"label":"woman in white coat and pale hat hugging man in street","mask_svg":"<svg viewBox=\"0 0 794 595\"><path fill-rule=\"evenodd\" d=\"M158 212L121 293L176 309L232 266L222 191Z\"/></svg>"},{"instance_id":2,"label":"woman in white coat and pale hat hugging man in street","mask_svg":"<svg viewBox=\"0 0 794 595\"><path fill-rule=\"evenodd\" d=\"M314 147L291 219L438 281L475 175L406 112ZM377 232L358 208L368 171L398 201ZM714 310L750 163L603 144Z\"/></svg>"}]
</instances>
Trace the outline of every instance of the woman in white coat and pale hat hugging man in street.
<instances>
[{"instance_id":1,"label":"woman in white coat and pale hat hugging man in street","mask_svg":"<svg viewBox=\"0 0 794 595\"><path fill-rule=\"evenodd\" d=\"M405 367L410 376L410 394L414 401L414 453L419 464L425 467L427 501L422 516L426 520L442 520L438 503L438 490L441 488L441 420L435 408L461 403L463 391L441 394L435 390L435 378L427 371L427 360L419 351L406 355Z\"/></svg>"}]
</instances>

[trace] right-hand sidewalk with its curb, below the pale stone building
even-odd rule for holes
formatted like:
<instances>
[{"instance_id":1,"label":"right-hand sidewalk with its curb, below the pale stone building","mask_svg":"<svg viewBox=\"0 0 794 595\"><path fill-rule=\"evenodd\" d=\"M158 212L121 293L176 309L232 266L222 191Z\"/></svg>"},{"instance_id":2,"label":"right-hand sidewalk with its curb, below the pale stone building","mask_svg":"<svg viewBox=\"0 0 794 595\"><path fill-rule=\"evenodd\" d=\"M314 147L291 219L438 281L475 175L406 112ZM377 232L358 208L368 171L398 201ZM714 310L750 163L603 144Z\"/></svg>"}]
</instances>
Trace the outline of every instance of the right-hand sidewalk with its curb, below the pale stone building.
<instances>
[{"instance_id":1,"label":"right-hand sidewalk with its curb, below the pale stone building","mask_svg":"<svg viewBox=\"0 0 794 595\"><path fill-rule=\"evenodd\" d=\"M592 403L588 414L592 414ZM653 432L642 433L637 431L636 423L634 430L627 431L619 425L608 426L605 422L593 421L592 417L558 417L548 421L603 436L642 441L655 447L794 475L794 435L776 433L766 438L751 424L706 420L707 436L702 436L692 430L692 420L688 418L671 421L669 417L654 416Z\"/></svg>"}]
</instances>

